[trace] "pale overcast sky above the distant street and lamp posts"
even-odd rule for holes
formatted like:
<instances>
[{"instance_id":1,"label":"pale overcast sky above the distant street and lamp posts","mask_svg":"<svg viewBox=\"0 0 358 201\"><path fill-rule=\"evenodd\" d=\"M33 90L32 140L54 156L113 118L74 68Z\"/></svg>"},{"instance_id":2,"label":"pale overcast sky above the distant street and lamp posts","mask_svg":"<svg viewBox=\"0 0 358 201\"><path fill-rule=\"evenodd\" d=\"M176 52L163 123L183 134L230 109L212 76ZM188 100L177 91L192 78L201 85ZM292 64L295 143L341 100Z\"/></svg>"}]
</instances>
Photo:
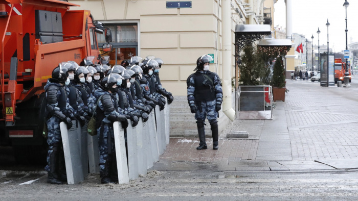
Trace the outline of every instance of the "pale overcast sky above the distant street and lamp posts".
<instances>
[{"instance_id":1,"label":"pale overcast sky above the distant street and lamp posts","mask_svg":"<svg viewBox=\"0 0 358 201\"><path fill-rule=\"evenodd\" d=\"M358 42L358 0L347 0L348 44ZM317 30L320 28L320 45L327 44L327 18L329 26L329 47L334 52L346 48L346 12L343 7L345 0L292 0L293 33L305 35L311 40L314 35L314 45L318 44ZM274 25L286 27L286 9L284 0L275 4Z\"/></svg>"}]
</instances>

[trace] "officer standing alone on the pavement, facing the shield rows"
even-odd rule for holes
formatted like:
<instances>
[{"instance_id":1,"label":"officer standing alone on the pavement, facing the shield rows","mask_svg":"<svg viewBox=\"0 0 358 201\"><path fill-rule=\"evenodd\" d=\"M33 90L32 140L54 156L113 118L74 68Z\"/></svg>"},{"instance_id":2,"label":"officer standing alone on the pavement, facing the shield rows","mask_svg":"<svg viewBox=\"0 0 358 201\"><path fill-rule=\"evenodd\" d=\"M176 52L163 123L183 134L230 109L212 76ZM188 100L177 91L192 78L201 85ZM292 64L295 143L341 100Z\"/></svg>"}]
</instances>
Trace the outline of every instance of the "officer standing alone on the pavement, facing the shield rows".
<instances>
[{"instance_id":1,"label":"officer standing alone on the pavement, facing the shield rows","mask_svg":"<svg viewBox=\"0 0 358 201\"><path fill-rule=\"evenodd\" d=\"M196 60L195 73L187 79L188 103L191 113L195 113L197 131L199 134L199 146L196 149L207 149L205 142L205 118L208 118L213 136L213 149L218 149L217 116L221 109L222 88L221 81L215 72L209 71L209 63L213 59L209 55L203 55Z\"/></svg>"}]
</instances>

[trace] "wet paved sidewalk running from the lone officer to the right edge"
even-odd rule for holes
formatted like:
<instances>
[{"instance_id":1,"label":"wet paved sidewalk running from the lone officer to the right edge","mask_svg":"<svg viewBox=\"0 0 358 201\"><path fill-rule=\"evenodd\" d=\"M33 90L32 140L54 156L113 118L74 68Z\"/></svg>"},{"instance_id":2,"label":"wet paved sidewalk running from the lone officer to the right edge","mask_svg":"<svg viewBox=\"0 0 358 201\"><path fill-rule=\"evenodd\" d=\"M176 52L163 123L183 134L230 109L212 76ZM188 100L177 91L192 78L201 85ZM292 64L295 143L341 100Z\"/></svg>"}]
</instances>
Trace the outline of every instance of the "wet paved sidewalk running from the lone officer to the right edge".
<instances>
[{"instance_id":1,"label":"wet paved sidewalk running from the lone officer to the right edge","mask_svg":"<svg viewBox=\"0 0 358 201\"><path fill-rule=\"evenodd\" d=\"M170 138L153 170L314 171L358 169L358 82L351 88L286 80L285 102L272 120L236 119L219 134L219 149L196 150L198 138ZM192 117L194 123L194 117ZM249 138L227 138L243 131ZM210 134L209 134L210 135Z\"/></svg>"}]
</instances>

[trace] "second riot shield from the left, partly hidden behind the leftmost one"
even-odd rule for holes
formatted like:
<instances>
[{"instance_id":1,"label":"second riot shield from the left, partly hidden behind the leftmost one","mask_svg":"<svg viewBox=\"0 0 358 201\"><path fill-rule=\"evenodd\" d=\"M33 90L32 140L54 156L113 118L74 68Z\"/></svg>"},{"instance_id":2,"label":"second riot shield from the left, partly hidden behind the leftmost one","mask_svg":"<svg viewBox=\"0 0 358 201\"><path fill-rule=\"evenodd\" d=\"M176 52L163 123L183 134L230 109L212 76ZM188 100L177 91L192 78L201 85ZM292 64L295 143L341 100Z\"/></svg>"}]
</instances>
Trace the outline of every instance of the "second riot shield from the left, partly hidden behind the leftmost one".
<instances>
[{"instance_id":1,"label":"second riot shield from the left, partly hidden behind the leftmost one","mask_svg":"<svg viewBox=\"0 0 358 201\"><path fill-rule=\"evenodd\" d=\"M78 138L81 151L82 172L84 179L86 179L88 175L87 135L87 123L85 123L80 129Z\"/></svg>"}]
</instances>

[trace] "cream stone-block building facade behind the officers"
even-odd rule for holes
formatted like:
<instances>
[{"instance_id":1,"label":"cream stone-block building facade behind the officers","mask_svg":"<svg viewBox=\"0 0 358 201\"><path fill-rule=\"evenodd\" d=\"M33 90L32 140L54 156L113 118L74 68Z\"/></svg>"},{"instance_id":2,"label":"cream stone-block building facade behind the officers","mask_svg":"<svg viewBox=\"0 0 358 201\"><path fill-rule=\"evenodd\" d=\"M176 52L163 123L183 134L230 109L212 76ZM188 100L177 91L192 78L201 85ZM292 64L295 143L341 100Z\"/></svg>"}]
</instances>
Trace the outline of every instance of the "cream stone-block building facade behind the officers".
<instances>
[{"instance_id":1,"label":"cream stone-block building facade behind the officers","mask_svg":"<svg viewBox=\"0 0 358 201\"><path fill-rule=\"evenodd\" d=\"M226 0L229 1L229 0ZM276 0L231 1L231 65L222 67L222 2L191 1L190 8L167 8L164 0L73 0L80 7L71 10L89 10L95 20L101 21L113 33L114 51L106 53L112 65L131 56L153 55L164 61L160 70L163 87L174 95L171 105L171 136L196 135L194 115L187 103L186 79L193 73L198 57L211 54L214 62L210 70L222 77L223 71L235 75L235 25L259 24L268 21L264 16L264 2L272 8ZM176 2L180 3L180 2ZM271 12L271 11L270 11ZM270 16L271 17L271 16ZM99 45L104 38L97 35ZM231 82L230 82L231 85ZM234 89L234 88L233 88ZM235 107L235 95L232 107ZM221 110L222 111L222 110ZM230 122L219 113L219 131ZM185 128L185 129L183 129ZM207 134L210 134L208 130Z\"/></svg>"}]
</instances>

